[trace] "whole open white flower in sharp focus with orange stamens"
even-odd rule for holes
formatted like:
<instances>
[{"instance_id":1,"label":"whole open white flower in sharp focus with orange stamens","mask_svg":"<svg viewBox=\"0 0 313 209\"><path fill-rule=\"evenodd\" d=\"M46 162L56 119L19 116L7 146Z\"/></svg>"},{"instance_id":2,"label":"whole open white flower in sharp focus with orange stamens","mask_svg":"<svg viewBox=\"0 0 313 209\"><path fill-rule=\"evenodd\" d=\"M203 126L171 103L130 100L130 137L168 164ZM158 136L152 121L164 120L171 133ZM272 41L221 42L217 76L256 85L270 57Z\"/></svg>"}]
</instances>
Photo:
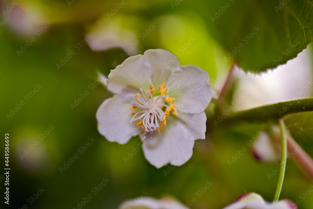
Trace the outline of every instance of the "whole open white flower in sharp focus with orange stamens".
<instances>
[{"instance_id":1,"label":"whole open white flower in sharp focus with orange stamens","mask_svg":"<svg viewBox=\"0 0 313 209\"><path fill-rule=\"evenodd\" d=\"M151 49L127 58L108 78L116 95L96 113L99 132L120 144L141 134L145 157L157 168L187 162L194 140L205 138L204 110L212 98L208 73Z\"/></svg>"}]
</instances>

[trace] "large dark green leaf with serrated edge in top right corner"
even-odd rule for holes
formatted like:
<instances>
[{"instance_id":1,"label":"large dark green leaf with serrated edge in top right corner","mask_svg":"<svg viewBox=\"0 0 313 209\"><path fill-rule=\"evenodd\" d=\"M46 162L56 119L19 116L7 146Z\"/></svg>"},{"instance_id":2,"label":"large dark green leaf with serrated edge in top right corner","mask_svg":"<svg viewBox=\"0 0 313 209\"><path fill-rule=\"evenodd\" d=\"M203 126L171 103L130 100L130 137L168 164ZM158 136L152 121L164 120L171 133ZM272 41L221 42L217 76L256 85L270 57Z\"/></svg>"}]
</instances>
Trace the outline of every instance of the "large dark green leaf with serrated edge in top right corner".
<instances>
[{"instance_id":1,"label":"large dark green leaf with serrated edge in top right corner","mask_svg":"<svg viewBox=\"0 0 313 209\"><path fill-rule=\"evenodd\" d=\"M234 55L245 71L261 72L296 57L313 40L312 2L223 0L198 10L206 14L211 35L227 50L227 58Z\"/></svg>"}]
</instances>

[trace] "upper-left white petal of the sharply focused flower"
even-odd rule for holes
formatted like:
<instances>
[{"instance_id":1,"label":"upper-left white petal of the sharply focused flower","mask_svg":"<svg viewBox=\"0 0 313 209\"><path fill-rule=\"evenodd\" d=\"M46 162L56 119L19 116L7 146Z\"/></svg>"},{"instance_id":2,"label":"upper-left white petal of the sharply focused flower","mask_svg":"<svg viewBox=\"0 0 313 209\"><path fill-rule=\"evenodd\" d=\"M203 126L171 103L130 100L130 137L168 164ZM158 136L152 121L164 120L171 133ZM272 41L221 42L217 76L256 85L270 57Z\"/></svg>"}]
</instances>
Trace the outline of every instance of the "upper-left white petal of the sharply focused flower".
<instances>
[{"instance_id":1,"label":"upper-left white petal of the sharply focused flower","mask_svg":"<svg viewBox=\"0 0 313 209\"><path fill-rule=\"evenodd\" d=\"M141 54L128 57L109 74L108 89L120 94L125 89L147 89L151 84L151 66L147 58Z\"/></svg>"}]
</instances>

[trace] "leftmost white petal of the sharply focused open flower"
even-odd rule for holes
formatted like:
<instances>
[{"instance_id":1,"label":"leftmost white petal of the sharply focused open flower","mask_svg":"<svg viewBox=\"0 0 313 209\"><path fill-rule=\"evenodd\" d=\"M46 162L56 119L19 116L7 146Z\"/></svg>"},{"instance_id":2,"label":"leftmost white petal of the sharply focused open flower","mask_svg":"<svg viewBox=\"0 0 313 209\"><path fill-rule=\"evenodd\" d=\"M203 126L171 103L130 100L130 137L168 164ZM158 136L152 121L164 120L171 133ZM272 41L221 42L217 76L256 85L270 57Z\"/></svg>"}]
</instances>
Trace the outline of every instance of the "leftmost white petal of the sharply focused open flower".
<instances>
[{"instance_id":1,"label":"leftmost white petal of the sharply focused open flower","mask_svg":"<svg viewBox=\"0 0 313 209\"><path fill-rule=\"evenodd\" d=\"M98 130L108 141L125 144L141 132L136 123L128 123L131 119L130 107L130 103L124 102L118 95L106 99L100 105L96 113Z\"/></svg>"}]
</instances>

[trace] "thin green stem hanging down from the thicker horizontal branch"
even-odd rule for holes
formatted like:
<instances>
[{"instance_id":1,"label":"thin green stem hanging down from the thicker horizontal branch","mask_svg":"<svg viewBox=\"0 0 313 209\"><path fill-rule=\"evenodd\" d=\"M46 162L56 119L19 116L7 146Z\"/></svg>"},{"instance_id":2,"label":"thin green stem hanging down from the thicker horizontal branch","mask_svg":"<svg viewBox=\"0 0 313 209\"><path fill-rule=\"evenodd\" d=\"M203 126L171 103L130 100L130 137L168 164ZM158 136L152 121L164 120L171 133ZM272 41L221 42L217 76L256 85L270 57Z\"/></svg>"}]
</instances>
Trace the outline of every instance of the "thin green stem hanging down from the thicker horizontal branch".
<instances>
[{"instance_id":1,"label":"thin green stem hanging down from the thicker horizontal branch","mask_svg":"<svg viewBox=\"0 0 313 209\"><path fill-rule=\"evenodd\" d=\"M273 202L277 202L279 199L281 187L283 186L283 182L284 182L286 162L287 162L287 131L286 131L284 120L282 118L279 119L279 124L280 124L280 141L281 141L281 168L280 168L278 184L276 187L276 192L275 192Z\"/></svg>"}]
</instances>

